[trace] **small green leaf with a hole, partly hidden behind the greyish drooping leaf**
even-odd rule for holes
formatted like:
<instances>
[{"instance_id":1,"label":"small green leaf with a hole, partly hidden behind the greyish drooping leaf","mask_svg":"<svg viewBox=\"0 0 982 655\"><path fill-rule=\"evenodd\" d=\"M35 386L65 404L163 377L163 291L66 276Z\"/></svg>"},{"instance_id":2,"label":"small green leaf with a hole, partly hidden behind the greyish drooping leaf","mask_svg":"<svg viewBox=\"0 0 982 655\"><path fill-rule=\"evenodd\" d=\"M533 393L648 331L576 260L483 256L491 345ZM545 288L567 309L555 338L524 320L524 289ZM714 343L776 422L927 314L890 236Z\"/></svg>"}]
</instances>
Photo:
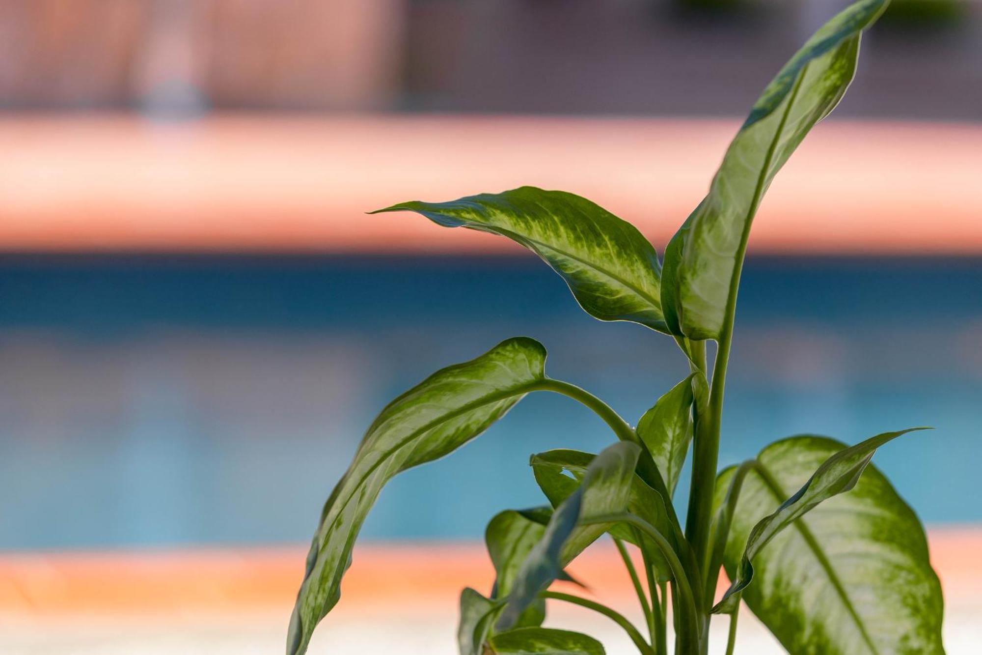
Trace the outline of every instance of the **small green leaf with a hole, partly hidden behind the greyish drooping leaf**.
<instances>
[{"instance_id":1,"label":"small green leaf with a hole, partly hidden behind the greyish drooping leaf","mask_svg":"<svg viewBox=\"0 0 982 655\"><path fill-rule=\"evenodd\" d=\"M530 463L535 472L535 481L538 482L546 498L554 506L560 506L579 487L595 456L589 452L559 448L532 455ZM564 471L569 472L573 477L566 475ZM670 517L665 499L645 484L636 474L630 481L627 510L655 526L669 539L676 550L679 550L682 532ZM609 532L618 539L644 549L649 562L656 568L659 581L664 582L672 579L672 570L665 562L661 549L656 545L623 523L613 524ZM597 534L594 530L577 529L567 539L566 557L573 559L585 550L596 537Z\"/></svg>"}]
</instances>

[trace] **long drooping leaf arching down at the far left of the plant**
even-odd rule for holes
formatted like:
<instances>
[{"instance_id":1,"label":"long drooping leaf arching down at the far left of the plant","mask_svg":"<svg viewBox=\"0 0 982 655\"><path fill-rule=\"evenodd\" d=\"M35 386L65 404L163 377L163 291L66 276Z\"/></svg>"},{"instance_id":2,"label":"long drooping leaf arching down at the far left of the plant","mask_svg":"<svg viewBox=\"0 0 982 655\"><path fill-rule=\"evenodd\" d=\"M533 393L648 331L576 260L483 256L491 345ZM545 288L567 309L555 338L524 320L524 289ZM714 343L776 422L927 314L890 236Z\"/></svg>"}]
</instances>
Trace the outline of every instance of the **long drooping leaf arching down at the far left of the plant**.
<instances>
[{"instance_id":1,"label":"long drooping leaf arching down at the far left of the plant","mask_svg":"<svg viewBox=\"0 0 982 655\"><path fill-rule=\"evenodd\" d=\"M545 359L537 341L508 339L434 373L382 410L321 513L290 622L289 655L306 650L314 627L337 604L355 537L385 483L481 434L545 379Z\"/></svg>"}]
</instances>

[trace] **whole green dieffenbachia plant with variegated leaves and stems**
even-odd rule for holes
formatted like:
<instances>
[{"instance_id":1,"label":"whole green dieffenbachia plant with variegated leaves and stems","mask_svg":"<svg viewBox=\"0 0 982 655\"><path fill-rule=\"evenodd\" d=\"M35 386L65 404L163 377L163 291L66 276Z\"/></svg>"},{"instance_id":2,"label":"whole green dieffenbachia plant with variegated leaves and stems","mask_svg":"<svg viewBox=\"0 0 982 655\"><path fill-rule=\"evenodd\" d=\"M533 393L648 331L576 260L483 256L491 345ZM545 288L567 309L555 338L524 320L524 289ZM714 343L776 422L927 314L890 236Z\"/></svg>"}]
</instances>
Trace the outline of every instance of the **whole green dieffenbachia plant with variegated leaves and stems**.
<instances>
[{"instance_id":1,"label":"whole green dieffenbachia plant with variegated leaves and stems","mask_svg":"<svg viewBox=\"0 0 982 655\"><path fill-rule=\"evenodd\" d=\"M390 478L464 446L526 394L569 396L603 419L618 442L597 454L551 450L531 468L548 504L491 519L497 574L482 594L464 589L462 655L598 655L594 638L543 627L547 602L599 612L644 655L702 655L715 614L746 603L791 653L936 655L942 597L916 515L869 462L888 432L852 447L791 437L717 472L723 393L747 238L772 179L805 134L846 92L859 37L887 0L860 0L818 30L764 89L730 145L709 193L659 260L626 221L573 194L522 187L449 203L410 202L446 227L508 237L558 272L579 305L602 321L631 321L675 338L691 374L632 427L606 403L545 373L546 351L511 338L442 369L393 400L368 428L321 514L288 637L306 651L314 627L338 603L355 538ZM713 366L706 341L716 342ZM684 523L673 492L691 446ZM616 543L644 625L581 596L550 589L604 534ZM641 568L629 551L640 552ZM720 569L732 580L717 599ZM718 601L718 602L717 602Z\"/></svg>"}]
</instances>

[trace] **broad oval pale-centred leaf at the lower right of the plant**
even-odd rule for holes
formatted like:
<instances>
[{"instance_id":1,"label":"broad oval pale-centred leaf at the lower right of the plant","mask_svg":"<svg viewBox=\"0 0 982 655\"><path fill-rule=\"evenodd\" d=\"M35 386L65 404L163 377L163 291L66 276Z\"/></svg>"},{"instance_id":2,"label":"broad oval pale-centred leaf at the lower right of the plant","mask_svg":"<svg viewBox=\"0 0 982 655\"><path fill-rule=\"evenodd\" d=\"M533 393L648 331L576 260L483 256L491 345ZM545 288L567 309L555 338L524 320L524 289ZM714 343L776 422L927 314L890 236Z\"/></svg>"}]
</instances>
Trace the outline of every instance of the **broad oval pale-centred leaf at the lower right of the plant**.
<instances>
[{"instance_id":1,"label":"broad oval pale-centred leaf at the lower right of the plant","mask_svg":"<svg viewBox=\"0 0 982 655\"><path fill-rule=\"evenodd\" d=\"M757 544L751 554L754 580L741 594L791 653L944 653L941 587L923 527L887 478L865 466L871 447L899 434L850 448L822 437L792 437L764 448L759 466L747 472L724 563L739 579L745 545ZM734 471L722 477L718 490L727 489ZM791 500L761 521L802 483ZM849 488L848 494L815 506L820 496ZM808 506L814 508L802 516ZM775 528L792 516L798 518L791 528L778 534ZM769 534L770 543L761 550Z\"/></svg>"}]
</instances>

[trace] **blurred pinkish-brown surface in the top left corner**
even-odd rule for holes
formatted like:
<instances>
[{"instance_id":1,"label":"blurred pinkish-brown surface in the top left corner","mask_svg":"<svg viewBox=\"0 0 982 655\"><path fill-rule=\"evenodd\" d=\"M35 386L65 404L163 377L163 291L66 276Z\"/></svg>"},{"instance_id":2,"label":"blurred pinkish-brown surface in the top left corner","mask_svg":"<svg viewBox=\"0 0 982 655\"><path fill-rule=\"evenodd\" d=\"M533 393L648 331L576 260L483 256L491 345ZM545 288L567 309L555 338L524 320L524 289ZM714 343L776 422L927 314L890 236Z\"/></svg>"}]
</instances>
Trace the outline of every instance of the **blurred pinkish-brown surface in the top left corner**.
<instances>
[{"instance_id":1,"label":"blurred pinkish-brown surface in the top left corner","mask_svg":"<svg viewBox=\"0 0 982 655\"><path fill-rule=\"evenodd\" d=\"M406 0L0 0L0 107L371 108Z\"/></svg>"}]
</instances>

